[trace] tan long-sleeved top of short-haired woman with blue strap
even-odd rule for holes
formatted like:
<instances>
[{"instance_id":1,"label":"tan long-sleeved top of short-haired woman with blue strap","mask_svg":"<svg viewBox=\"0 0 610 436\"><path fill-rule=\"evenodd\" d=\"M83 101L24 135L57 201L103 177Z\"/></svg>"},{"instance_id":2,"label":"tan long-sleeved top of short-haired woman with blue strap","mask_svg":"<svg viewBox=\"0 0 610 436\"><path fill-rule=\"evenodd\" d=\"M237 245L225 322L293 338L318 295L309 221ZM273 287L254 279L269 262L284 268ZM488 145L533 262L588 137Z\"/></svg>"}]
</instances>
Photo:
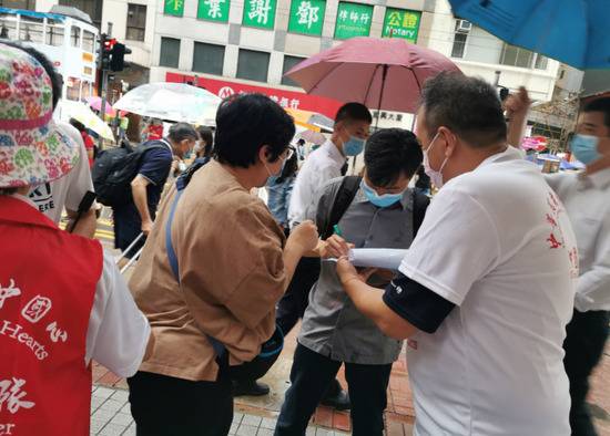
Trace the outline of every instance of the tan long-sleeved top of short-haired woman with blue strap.
<instances>
[{"instance_id":1,"label":"tan long-sleeved top of short-haired woman with blue strap","mask_svg":"<svg viewBox=\"0 0 610 436\"><path fill-rule=\"evenodd\" d=\"M287 282L284 235L261 199L218 163L191 179L172 226L181 286L165 250L172 187L130 280L155 343L141 371L214 381L217 365L206 334L232 364L252 360L275 329L275 304Z\"/></svg>"}]
</instances>

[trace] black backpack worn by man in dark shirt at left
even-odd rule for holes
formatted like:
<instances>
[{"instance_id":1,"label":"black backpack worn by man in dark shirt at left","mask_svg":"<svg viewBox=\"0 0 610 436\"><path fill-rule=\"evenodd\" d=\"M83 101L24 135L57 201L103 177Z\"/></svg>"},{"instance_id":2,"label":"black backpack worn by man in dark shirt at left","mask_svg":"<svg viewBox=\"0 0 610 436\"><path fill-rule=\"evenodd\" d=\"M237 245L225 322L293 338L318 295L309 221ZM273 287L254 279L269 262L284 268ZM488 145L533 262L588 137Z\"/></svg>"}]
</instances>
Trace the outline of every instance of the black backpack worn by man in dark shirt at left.
<instances>
[{"instance_id":1,"label":"black backpack worn by man in dark shirt at left","mask_svg":"<svg viewBox=\"0 0 610 436\"><path fill-rule=\"evenodd\" d=\"M150 141L136 148L123 144L100 152L91 170L98 201L111 207L128 204L131 199L130 184L138 175L144 153L167 146L164 141Z\"/></svg>"}]
</instances>

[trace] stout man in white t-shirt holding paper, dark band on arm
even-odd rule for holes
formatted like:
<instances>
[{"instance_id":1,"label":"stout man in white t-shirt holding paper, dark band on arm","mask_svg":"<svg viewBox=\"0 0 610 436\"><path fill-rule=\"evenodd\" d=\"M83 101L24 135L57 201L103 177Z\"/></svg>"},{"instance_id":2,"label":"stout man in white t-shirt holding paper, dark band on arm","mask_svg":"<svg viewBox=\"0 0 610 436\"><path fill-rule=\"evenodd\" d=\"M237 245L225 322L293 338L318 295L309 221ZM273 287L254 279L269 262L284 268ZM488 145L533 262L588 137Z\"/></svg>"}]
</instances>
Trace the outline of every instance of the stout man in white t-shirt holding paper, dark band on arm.
<instances>
[{"instance_id":1,"label":"stout man in white t-shirt holding paper, dark band on arm","mask_svg":"<svg viewBox=\"0 0 610 436\"><path fill-rule=\"evenodd\" d=\"M570 434L562 342L578 255L557 195L507 146L496 90L443 73L417 134L440 188L385 292L342 258L355 305L408 338L416 435Z\"/></svg>"}]
</instances>

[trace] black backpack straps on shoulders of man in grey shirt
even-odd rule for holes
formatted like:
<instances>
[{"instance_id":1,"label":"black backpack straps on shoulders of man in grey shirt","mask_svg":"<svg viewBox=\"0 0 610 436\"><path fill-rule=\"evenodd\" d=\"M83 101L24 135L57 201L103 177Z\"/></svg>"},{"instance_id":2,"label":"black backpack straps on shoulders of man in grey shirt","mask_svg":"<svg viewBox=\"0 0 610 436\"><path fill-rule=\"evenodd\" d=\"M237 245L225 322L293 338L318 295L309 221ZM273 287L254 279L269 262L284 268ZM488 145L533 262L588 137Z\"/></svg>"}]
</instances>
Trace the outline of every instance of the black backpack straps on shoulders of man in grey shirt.
<instances>
[{"instance_id":1,"label":"black backpack straps on shoulders of man in grey shirt","mask_svg":"<svg viewBox=\"0 0 610 436\"><path fill-rule=\"evenodd\" d=\"M328 215L327 222L317 222L318 231L321 232L321 238L324 240L329 238L334 233L334 227L337 225L347 208L354 201L354 197L358 193L360 187L362 177L359 176L345 176L340 183L340 187L335 195L335 200L333 203L333 208ZM413 205L413 237L417 236L419 227L424 221L426 215L426 209L430 204L430 199L427 195L415 193L414 205Z\"/></svg>"}]
</instances>

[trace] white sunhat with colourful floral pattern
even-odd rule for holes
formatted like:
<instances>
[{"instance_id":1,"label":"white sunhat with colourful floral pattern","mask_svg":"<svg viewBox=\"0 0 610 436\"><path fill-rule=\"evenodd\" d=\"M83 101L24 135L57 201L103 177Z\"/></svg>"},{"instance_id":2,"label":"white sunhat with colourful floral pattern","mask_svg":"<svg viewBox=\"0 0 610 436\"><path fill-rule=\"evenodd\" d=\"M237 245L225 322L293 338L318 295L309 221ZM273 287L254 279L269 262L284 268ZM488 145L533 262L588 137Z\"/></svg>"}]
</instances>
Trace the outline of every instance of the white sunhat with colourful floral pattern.
<instances>
[{"instance_id":1,"label":"white sunhat with colourful floral pattern","mask_svg":"<svg viewBox=\"0 0 610 436\"><path fill-rule=\"evenodd\" d=\"M79 148L52 120L51 77L22 50L0 43L0 188L64 176Z\"/></svg>"}]
</instances>

